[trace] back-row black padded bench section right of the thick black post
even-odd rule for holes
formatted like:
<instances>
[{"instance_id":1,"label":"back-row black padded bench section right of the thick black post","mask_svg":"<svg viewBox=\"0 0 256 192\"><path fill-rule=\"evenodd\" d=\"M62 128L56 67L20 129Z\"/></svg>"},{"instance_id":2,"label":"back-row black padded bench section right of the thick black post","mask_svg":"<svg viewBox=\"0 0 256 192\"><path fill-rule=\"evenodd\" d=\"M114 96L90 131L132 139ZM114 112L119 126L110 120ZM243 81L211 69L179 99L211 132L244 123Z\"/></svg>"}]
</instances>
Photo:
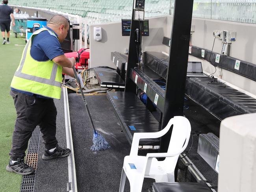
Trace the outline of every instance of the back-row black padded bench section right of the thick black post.
<instances>
[{"instance_id":1,"label":"back-row black padded bench section right of the thick black post","mask_svg":"<svg viewBox=\"0 0 256 192\"><path fill-rule=\"evenodd\" d=\"M210 78L187 78L186 94L207 111L226 117L256 113L256 99Z\"/></svg>"}]
</instances>

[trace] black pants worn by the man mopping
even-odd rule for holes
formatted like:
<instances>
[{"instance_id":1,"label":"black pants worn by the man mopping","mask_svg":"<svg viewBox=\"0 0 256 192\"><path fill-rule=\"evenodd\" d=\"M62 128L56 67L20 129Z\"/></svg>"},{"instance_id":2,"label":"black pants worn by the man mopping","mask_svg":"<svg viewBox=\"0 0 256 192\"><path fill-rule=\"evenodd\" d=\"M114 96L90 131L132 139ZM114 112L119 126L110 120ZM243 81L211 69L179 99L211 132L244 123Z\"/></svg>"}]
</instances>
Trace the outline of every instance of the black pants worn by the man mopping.
<instances>
[{"instance_id":1,"label":"black pants worn by the man mopping","mask_svg":"<svg viewBox=\"0 0 256 192\"><path fill-rule=\"evenodd\" d=\"M13 161L25 157L33 130L37 125L43 135L43 143L46 149L55 148L58 144L56 139L56 116L57 110L53 99L37 98L11 90L17 113L13 131L12 148L9 155Z\"/></svg>"}]
</instances>

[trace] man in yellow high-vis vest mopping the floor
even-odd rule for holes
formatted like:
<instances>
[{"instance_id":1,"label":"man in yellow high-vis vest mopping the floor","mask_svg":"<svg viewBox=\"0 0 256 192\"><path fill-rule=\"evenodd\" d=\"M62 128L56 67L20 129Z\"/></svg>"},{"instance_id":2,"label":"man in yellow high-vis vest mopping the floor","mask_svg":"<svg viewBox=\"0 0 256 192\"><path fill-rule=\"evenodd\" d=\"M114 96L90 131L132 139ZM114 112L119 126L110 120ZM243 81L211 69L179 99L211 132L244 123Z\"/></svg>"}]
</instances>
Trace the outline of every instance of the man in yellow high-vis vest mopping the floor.
<instances>
[{"instance_id":1,"label":"man in yellow high-vis vest mopping the floor","mask_svg":"<svg viewBox=\"0 0 256 192\"><path fill-rule=\"evenodd\" d=\"M67 37L69 22L62 15L52 17L47 26L35 31L27 42L13 80L13 97L17 118L13 131L9 172L28 175L34 168L24 161L33 130L37 125L43 136L43 159L67 157L69 149L58 146L56 139L57 110L53 99L61 97L62 72L74 77L74 57L68 59L60 42Z\"/></svg>"}]
</instances>

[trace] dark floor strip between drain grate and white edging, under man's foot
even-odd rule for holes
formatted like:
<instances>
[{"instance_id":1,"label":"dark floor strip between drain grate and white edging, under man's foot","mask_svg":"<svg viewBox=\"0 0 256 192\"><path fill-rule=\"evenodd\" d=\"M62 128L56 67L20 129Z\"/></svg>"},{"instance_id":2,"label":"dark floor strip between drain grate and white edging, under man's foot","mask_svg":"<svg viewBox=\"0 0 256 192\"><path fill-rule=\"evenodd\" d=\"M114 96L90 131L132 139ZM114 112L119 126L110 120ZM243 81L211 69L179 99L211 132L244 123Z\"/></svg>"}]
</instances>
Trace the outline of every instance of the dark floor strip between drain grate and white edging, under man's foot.
<instances>
[{"instance_id":1,"label":"dark floor strip between drain grate and white edging, under man's foot","mask_svg":"<svg viewBox=\"0 0 256 192\"><path fill-rule=\"evenodd\" d=\"M54 103L58 111L56 120L58 145L62 148L67 148L63 93L61 93L61 100L54 100ZM42 159L44 150L45 145L41 136L34 192L66 192L67 183L69 183L67 157L45 161Z\"/></svg>"}]
</instances>

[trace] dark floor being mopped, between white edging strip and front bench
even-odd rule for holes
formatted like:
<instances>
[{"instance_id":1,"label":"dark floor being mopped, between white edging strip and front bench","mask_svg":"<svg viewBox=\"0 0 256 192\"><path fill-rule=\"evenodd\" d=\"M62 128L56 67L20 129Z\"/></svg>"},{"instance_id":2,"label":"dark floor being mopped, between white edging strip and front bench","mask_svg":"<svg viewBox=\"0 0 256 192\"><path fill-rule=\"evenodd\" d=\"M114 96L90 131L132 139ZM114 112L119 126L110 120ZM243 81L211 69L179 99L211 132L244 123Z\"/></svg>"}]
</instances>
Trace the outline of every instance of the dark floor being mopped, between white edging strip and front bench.
<instances>
[{"instance_id":1,"label":"dark floor being mopped, between white edging strip and front bench","mask_svg":"<svg viewBox=\"0 0 256 192\"><path fill-rule=\"evenodd\" d=\"M106 95L86 96L95 128L109 142L111 149L90 150L93 131L81 96L69 94L70 121L76 162L79 192L119 191L123 159L130 153L130 145L121 133L121 126ZM148 191L153 179L144 179L143 192ZM130 191L126 179L126 192Z\"/></svg>"}]
</instances>

